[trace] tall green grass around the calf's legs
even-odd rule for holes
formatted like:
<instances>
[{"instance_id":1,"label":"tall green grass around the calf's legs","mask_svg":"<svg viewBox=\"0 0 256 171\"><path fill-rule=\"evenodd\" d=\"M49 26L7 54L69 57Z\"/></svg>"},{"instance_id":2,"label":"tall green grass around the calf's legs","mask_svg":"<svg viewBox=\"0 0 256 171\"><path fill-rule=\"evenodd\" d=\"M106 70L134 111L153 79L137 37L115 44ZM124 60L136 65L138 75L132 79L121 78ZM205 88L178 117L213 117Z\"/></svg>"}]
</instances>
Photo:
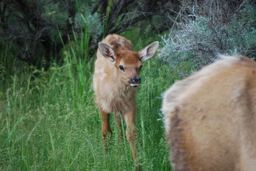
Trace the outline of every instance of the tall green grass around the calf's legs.
<instances>
[{"instance_id":1,"label":"tall green grass around the calf's legs","mask_svg":"<svg viewBox=\"0 0 256 171\"><path fill-rule=\"evenodd\" d=\"M135 50L159 39L129 35L124 34ZM45 71L13 62L15 54L8 48L0 53L0 170L133 170L129 143L119 141L113 115L110 149L104 150L92 89L95 59L84 62L66 49L65 64ZM140 165L171 170L158 97L179 78L154 57L143 62L141 78L136 116Z\"/></svg>"}]
</instances>

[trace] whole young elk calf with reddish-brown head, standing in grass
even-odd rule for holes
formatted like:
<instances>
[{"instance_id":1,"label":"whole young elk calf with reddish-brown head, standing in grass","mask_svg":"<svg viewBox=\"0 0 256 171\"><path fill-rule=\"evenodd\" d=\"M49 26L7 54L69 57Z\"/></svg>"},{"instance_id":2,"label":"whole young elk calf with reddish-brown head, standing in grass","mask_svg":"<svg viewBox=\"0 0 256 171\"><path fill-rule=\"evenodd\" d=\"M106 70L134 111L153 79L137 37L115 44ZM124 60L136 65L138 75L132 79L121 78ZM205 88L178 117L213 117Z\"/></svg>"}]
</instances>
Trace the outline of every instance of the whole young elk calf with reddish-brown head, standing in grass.
<instances>
[{"instance_id":1,"label":"whole young elk calf with reddish-brown head, standing in grass","mask_svg":"<svg viewBox=\"0 0 256 171\"><path fill-rule=\"evenodd\" d=\"M106 136L112 133L109 125L110 113L121 127L120 114L127 125L126 138L136 161L136 92L140 84L141 62L151 58L157 48L154 42L138 53L132 44L122 36L111 34L98 44L97 60L93 78L96 103L102 116L102 135L106 147Z\"/></svg>"}]
</instances>

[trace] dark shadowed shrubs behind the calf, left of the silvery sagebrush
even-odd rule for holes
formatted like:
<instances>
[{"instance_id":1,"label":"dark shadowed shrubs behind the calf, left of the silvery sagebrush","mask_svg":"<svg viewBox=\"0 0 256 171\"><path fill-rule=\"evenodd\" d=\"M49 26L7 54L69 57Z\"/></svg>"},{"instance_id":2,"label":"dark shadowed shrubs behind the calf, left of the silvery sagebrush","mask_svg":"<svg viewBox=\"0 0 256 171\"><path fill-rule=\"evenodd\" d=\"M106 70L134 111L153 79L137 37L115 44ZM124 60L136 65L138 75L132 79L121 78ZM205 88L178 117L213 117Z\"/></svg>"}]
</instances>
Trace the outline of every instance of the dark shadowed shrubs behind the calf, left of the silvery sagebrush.
<instances>
[{"instance_id":1,"label":"dark shadowed shrubs behind the calf, left of the silvery sagebrush","mask_svg":"<svg viewBox=\"0 0 256 171\"><path fill-rule=\"evenodd\" d=\"M61 61L60 51L86 31L88 52L110 33L140 27L167 30L178 10L178 0L0 0L0 38L18 51L28 64L49 66ZM84 30L86 29L86 30ZM86 51L86 50L85 50Z\"/></svg>"}]
</instances>

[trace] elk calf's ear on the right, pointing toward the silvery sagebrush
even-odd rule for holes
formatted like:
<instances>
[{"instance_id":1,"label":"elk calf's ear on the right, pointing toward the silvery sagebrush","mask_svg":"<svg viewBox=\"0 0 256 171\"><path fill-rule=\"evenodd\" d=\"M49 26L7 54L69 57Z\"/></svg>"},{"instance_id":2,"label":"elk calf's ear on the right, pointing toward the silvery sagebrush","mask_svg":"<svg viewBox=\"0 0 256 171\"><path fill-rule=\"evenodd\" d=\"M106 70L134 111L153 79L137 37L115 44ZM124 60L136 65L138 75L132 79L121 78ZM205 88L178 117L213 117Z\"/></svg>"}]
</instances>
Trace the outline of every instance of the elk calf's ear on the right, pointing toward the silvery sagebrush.
<instances>
[{"instance_id":1,"label":"elk calf's ear on the right, pointing toward the silvery sagebrush","mask_svg":"<svg viewBox=\"0 0 256 171\"><path fill-rule=\"evenodd\" d=\"M156 42L153 42L152 44L146 46L146 48L143 48L142 50L140 50L138 52L138 54L140 56L140 61L144 61L144 60L151 58L156 53L158 44L159 44L159 42L156 41Z\"/></svg>"}]
</instances>

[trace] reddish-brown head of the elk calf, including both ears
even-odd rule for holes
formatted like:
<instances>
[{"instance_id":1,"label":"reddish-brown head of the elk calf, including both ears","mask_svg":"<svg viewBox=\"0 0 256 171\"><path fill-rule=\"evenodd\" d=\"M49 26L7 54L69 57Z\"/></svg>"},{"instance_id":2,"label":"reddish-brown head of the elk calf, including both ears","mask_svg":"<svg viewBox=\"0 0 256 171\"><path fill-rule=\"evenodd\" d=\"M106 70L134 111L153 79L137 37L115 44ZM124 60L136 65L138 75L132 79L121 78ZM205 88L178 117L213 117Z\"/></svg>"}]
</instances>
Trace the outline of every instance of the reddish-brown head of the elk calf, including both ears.
<instances>
[{"instance_id":1,"label":"reddish-brown head of the elk calf, including both ears","mask_svg":"<svg viewBox=\"0 0 256 171\"><path fill-rule=\"evenodd\" d=\"M110 46L100 42L98 44L100 53L116 67L118 79L132 87L137 87L140 82L141 62L151 58L158 48L159 42L154 42L138 53L123 50L116 53Z\"/></svg>"}]
</instances>

